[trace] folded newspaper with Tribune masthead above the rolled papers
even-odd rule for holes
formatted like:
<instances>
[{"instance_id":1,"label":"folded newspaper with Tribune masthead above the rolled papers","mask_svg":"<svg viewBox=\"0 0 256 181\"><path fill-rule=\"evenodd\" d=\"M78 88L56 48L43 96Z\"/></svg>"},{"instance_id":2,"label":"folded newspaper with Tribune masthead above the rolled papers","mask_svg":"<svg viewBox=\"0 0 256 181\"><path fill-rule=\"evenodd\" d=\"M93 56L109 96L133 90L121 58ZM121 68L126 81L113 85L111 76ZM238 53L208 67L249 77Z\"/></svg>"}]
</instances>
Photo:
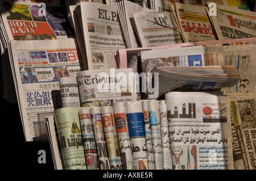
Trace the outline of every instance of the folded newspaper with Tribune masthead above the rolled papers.
<instances>
[{"instance_id":1,"label":"folded newspaper with Tribune masthead above the rolled papers","mask_svg":"<svg viewBox=\"0 0 256 181\"><path fill-rule=\"evenodd\" d=\"M84 70L77 73L77 81L82 107L136 100L132 69Z\"/></svg>"}]
</instances>

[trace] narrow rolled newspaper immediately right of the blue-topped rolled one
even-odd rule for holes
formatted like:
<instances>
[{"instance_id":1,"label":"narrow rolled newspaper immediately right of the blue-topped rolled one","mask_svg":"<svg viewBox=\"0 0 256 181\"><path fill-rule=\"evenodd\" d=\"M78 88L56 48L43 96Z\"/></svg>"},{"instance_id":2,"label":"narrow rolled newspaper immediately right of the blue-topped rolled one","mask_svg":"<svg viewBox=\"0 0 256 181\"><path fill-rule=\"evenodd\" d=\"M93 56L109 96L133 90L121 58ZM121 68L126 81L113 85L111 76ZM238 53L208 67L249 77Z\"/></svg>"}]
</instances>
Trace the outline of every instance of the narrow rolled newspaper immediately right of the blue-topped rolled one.
<instances>
[{"instance_id":1,"label":"narrow rolled newspaper immediately right of the blue-topped rolled one","mask_svg":"<svg viewBox=\"0 0 256 181\"><path fill-rule=\"evenodd\" d=\"M142 100L142 111L143 111L143 119L144 119L145 138L146 138L148 170L155 170L148 100Z\"/></svg>"}]
</instances>

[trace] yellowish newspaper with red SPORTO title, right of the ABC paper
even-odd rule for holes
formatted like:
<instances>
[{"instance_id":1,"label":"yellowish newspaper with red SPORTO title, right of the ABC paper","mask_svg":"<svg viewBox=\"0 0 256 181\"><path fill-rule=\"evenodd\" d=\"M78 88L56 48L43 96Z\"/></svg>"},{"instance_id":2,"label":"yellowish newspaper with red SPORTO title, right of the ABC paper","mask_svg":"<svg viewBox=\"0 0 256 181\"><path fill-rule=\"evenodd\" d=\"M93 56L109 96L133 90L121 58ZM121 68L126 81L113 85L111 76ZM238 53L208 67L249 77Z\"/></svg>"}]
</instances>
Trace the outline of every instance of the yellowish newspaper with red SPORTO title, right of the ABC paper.
<instances>
[{"instance_id":1,"label":"yellowish newspaper with red SPORTO title, right of the ABC paper","mask_svg":"<svg viewBox=\"0 0 256 181\"><path fill-rule=\"evenodd\" d=\"M185 42L217 40L205 7L175 3L175 9Z\"/></svg>"}]
</instances>

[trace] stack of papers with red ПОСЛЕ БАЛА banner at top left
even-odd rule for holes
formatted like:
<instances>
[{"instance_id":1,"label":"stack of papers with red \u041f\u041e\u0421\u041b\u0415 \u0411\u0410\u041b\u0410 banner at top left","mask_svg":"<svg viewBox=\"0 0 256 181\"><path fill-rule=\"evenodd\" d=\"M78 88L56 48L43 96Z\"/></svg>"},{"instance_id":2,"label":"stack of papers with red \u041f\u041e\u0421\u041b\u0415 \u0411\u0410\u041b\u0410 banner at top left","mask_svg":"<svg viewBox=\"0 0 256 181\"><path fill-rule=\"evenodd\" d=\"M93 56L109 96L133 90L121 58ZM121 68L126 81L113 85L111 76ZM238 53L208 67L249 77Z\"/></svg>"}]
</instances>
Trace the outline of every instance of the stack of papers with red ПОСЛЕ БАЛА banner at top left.
<instances>
[{"instance_id":1,"label":"stack of papers with red \u041f\u041e\u0421\u041b\u0415 \u0411\u0410\u041b\u0410 banner at top left","mask_svg":"<svg viewBox=\"0 0 256 181\"><path fill-rule=\"evenodd\" d=\"M7 44L10 40L56 40L75 37L67 19L67 9L61 1L0 1L1 55L4 95L16 102Z\"/></svg>"}]
</instances>

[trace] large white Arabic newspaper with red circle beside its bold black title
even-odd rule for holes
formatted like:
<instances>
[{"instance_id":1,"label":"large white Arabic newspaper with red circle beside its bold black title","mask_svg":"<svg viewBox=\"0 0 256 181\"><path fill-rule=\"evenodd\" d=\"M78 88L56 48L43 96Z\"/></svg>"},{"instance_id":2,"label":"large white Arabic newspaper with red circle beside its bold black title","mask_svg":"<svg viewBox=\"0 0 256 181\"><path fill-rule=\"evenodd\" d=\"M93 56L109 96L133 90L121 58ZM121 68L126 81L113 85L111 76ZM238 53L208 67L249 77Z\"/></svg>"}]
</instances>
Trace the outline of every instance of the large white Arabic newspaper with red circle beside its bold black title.
<instances>
[{"instance_id":1,"label":"large white Arabic newspaper with red circle beside its bold black title","mask_svg":"<svg viewBox=\"0 0 256 181\"><path fill-rule=\"evenodd\" d=\"M233 170L230 102L219 94L165 95L174 169Z\"/></svg>"}]
</instances>

